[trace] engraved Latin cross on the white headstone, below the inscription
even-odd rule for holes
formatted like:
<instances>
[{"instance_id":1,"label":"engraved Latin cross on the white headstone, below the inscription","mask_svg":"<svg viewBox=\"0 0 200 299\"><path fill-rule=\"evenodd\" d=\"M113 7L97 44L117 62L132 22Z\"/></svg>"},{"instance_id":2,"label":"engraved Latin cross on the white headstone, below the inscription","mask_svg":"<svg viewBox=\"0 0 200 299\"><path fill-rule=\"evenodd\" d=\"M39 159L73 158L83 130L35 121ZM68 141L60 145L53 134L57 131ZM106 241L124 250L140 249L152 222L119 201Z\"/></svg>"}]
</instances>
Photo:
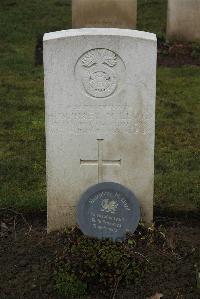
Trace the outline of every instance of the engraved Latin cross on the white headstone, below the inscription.
<instances>
[{"instance_id":1,"label":"engraved Latin cross on the white headstone, below the inscription","mask_svg":"<svg viewBox=\"0 0 200 299\"><path fill-rule=\"evenodd\" d=\"M98 142L98 160L80 160L81 165L98 166L98 183L103 181L103 166L121 166L120 160L104 160L103 159L103 141L104 139L97 139Z\"/></svg>"}]
</instances>

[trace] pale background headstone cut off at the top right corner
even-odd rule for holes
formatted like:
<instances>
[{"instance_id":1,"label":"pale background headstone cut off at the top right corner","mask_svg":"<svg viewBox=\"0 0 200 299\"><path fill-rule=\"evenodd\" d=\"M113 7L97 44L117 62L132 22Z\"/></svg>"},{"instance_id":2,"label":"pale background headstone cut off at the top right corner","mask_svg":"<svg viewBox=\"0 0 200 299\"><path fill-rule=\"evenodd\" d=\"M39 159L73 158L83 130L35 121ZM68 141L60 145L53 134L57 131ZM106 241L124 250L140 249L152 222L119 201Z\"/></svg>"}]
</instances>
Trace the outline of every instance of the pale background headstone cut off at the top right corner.
<instances>
[{"instance_id":1,"label":"pale background headstone cut off at the top right corner","mask_svg":"<svg viewBox=\"0 0 200 299\"><path fill-rule=\"evenodd\" d=\"M168 0L167 38L200 40L200 0Z\"/></svg>"}]
</instances>

